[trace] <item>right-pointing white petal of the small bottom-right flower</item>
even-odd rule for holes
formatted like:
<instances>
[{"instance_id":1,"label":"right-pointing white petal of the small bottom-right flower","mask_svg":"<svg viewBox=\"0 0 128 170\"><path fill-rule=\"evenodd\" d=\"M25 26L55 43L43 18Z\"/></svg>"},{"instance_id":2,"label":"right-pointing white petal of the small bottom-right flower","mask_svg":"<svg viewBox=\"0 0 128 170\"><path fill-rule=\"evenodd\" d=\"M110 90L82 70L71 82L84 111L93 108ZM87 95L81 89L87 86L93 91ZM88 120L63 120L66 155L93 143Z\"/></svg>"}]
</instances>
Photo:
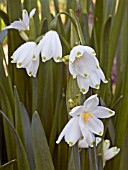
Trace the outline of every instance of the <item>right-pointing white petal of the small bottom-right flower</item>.
<instances>
[{"instance_id":1,"label":"right-pointing white petal of the small bottom-right flower","mask_svg":"<svg viewBox=\"0 0 128 170\"><path fill-rule=\"evenodd\" d=\"M120 149L117 147L112 147L110 149L108 149L105 153L104 153L104 159L107 161L109 159L112 159L114 156L116 156L119 153Z\"/></svg>"}]
</instances>

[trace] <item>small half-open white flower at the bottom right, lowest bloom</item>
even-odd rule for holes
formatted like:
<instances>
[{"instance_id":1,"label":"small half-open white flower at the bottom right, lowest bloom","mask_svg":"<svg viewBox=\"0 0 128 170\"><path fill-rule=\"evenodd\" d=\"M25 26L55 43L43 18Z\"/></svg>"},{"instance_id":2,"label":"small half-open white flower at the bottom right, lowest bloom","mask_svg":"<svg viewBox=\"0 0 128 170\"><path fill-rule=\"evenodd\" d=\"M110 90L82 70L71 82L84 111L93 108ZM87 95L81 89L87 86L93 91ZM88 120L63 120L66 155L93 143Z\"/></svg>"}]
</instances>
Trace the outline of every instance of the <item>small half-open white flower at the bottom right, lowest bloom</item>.
<instances>
[{"instance_id":1,"label":"small half-open white flower at the bottom right, lowest bloom","mask_svg":"<svg viewBox=\"0 0 128 170\"><path fill-rule=\"evenodd\" d=\"M112 159L120 151L120 148L117 147L109 148L109 147L110 147L110 140L108 139L104 140L103 141L103 167L105 166L106 161Z\"/></svg>"}]
</instances>

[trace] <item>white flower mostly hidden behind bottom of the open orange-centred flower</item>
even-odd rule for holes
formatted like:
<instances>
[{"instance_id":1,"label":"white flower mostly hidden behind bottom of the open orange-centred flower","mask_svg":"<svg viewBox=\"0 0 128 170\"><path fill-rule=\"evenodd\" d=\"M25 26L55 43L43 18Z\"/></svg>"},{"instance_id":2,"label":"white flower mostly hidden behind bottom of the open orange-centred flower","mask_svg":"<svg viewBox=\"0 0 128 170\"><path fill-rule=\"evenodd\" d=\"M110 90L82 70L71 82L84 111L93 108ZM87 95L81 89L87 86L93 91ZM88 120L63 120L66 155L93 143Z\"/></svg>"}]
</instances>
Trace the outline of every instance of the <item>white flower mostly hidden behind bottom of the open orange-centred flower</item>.
<instances>
[{"instance_id":1,"label":"white flower mostly hidden behind bottom of the open orange-centred flower","mask_svg":"<svg viewBox=\"0 0 128 170\"><path fill-rule=\"evenodd\" d=\"M91 137L87 137L86 139L79 140L78 146L79 148L89 148L94 146L94 142L96 142L96 146L102 140L100 137L94 137L92 133L89 133ZM91 139L91 141L89 141ZM96 141L95 141L96 140Z\"/></svg>"}]
</instances>

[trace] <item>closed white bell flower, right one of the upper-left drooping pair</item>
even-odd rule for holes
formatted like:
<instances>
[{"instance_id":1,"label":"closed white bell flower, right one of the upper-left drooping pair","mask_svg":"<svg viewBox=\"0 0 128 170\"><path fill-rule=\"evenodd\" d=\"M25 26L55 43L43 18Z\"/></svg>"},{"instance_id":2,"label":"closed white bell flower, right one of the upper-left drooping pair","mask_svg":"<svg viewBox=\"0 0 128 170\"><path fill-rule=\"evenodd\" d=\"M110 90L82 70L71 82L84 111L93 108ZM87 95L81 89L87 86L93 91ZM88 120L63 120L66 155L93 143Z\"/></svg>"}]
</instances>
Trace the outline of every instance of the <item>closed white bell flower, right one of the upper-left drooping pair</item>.
<instances>
[{"instance_id":1,"label":"closed white bell flower, right one of the upper-left drooping pair","mask_svg":"<svg viewBox=\"0 0 128 170\"><path fill-rule=\"evenodd\" d=\"M56 31L48 31L38 44L41 50L42 61L50 60L52 57L55 62L62 59L62 46L59 35Z\"/></svg>"}]
</instances>

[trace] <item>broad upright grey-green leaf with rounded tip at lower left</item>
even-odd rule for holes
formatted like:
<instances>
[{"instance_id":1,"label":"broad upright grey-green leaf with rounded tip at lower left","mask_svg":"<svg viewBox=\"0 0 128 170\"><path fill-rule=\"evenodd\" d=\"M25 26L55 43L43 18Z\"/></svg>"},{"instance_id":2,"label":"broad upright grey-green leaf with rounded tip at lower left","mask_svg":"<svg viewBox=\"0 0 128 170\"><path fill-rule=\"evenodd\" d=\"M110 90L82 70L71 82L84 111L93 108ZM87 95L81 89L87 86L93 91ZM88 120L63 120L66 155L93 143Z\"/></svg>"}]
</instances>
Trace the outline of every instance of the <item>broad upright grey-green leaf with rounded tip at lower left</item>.
<instances>
[{"instance_id":1,"label":"broad upright grey-green leaf with rounded tip at lower left","mask_svg":"<svg viewBox=\"0 0 128 170\"><path fill-rule=\"evenodd\" d=\"M36 170L54 170L45 132L37 112L32 117L32 136Z\"/></svg>"}]
</instances>

